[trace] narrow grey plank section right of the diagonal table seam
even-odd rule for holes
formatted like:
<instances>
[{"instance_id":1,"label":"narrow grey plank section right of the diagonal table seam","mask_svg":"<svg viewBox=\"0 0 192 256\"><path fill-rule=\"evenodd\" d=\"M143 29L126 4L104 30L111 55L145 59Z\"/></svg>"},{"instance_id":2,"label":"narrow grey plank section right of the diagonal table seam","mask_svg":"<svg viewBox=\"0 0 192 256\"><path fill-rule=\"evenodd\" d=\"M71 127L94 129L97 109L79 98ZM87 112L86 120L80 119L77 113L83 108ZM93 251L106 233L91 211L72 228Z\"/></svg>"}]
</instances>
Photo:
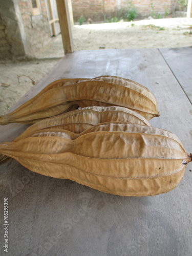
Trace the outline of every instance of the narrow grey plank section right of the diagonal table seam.
<instances>
[{"instance_id":1,"label":"narrow grey plank section right of the diagonal table seam","mask_svg":"<svg viewBox=\"0 0 192 256\"><path fill-rule=\"evenodd\" d=\"M160 52L192 103L192 47L161 48Z\"/></svg>"}]
</instances>

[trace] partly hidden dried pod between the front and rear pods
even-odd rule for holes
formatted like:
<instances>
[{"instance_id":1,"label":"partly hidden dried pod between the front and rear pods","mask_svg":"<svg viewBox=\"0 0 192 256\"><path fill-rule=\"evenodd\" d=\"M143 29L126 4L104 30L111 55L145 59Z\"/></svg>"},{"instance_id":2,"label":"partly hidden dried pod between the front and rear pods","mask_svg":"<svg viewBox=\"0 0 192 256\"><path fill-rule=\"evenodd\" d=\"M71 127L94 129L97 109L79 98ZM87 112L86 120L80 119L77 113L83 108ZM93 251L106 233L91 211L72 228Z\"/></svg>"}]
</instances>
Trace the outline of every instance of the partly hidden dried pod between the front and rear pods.
<instances>
[{"instance_id":1,"label":"partly hidden dried pod between the front and rear pods","mask_svg":"<svg viewBox=\"0 0 192 256\"><path fill-rule=\"evenodd\" d=\"M90 106L36 122L29 126L28 129L14 139L14 141L29 137L30 134L42 129L58 128L74 133L81 133L92 125L110 121L131 122L150 126L150 123L135 111L120 106Z\"/></svg>"}]
</instances>

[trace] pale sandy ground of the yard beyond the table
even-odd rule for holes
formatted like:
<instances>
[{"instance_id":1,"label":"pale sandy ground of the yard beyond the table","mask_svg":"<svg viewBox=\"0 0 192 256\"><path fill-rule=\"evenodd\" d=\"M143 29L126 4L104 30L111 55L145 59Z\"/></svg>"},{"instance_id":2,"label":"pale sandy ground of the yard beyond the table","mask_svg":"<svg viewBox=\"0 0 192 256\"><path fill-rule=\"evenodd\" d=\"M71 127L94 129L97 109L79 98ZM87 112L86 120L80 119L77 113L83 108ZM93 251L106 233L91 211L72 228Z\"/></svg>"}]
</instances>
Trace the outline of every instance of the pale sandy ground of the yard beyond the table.
<instances>
[{"instance_id":1,"label":"pale sandy ground of the yard beyond the table","mask_svg":"<svg viewBox=\"0 0 192 256\"><path fill-rule=\"evenodd\" d=\"M192 18L75 25L73 40L75 51L188 47L192 46ZM58 35L30 60L0 61L0 114L6 113L63 55Z\"/></svg>"}]
</instances>

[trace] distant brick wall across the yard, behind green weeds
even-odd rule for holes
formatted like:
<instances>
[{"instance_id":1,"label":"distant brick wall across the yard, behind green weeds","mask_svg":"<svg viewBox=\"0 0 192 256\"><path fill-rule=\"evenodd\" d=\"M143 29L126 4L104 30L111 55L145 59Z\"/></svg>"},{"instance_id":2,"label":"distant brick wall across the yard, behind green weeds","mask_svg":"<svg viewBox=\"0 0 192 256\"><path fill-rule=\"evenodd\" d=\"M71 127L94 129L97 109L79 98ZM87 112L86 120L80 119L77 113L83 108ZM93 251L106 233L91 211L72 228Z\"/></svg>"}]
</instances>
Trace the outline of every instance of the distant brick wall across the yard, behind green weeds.
<instances>
[{"instance_id":1,"label":"distant brick wall across the yard, behind green weeds","mask_svg":"<svg viewBox=\"0 0 192 256\"><path fill-rule=\"evenodd\" d=\"M154 12L164 14L165 8L170 13L172 12L175 0L133 0L140 16L151 15L151 2L153 2ZM104 3L104 13L103 13ZM104 15L117 16L118 13L124 8L128 7L129 1L127 0L72 0L73 17L75 22L83 15L85 18L92 18L92 20L98 21L103 20Z\"/></svg>"}]
</instances>

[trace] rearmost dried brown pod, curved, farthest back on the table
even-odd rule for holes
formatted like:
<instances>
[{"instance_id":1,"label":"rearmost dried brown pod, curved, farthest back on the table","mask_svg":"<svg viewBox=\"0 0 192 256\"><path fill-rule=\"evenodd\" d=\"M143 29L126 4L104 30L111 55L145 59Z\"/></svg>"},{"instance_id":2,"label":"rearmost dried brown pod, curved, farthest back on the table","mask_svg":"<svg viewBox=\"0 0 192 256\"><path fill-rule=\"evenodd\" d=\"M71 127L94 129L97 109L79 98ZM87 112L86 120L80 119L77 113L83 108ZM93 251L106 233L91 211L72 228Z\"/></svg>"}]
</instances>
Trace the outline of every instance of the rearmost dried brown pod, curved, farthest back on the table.
<instances>
[{"instance_id":1,"label":"rearmost dried brown pod, curved, farthest back on the table","mask_svg":"<svg viewBox=\"0 0 192 256\"><path fill-rule=\"evenodd\" d=\"M147 120L159 116L152 92L131 80L103 76L90 80L76 79L76 83L63 85L65 82L62 79L53 82L48 89L45 88L15 111L0 116L0 124L35 122L36 119L67 112L74 104L124 106L137 111Z\"/></svg>"}]
</instances>

